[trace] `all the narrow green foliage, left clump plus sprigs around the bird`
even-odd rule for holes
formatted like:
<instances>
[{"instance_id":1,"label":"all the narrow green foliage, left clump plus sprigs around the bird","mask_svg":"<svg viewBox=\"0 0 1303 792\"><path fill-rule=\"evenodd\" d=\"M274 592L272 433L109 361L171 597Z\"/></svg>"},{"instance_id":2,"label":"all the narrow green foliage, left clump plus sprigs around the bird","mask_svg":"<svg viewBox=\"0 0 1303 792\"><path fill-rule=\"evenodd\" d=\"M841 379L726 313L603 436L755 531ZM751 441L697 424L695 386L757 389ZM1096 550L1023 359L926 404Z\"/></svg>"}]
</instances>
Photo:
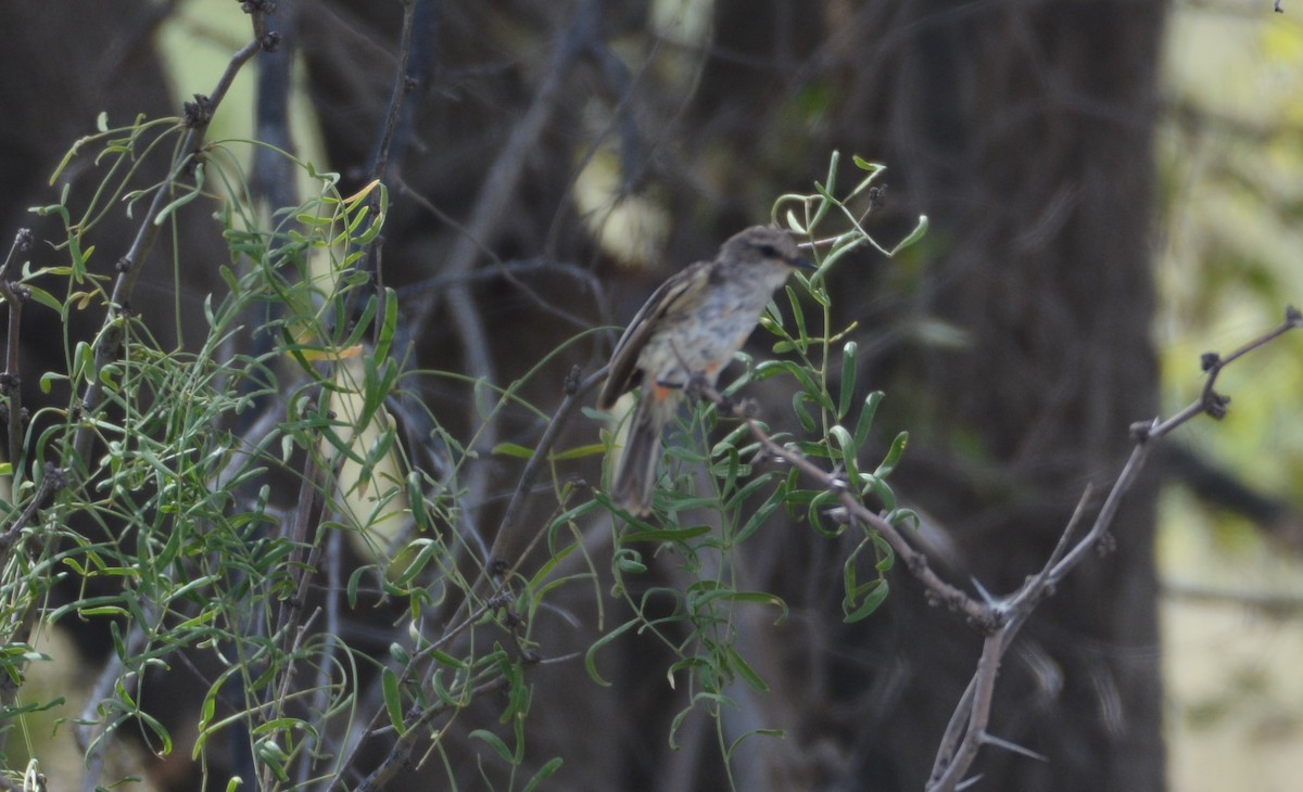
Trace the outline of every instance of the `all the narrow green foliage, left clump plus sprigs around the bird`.
<instances>
[{"instance_id":1,"label":"all the narrow green foliage, left clump plus sprigs around the bird","mask_svg":"<svg viewBox=\"0 0 1303 792\"><path fill-rule=\"evenodd\" d=\"M530 565L509 558L490 568L491 551L461 521L470 508L463 482L482 426L508 408L564 421L564 412L552 417L523 393L590 333L503 388L456 371L412 370L397 343L396 297L373 289L364 270L387 212L384 185L341 195L335 175L292 160L313 194L294 207L259 207L240 167L258 143L210 142L192 155L176 146L182 132L176 120L109 126L102 117L99 132L78 141L60 165L93 160L95 191L74 202L64 189L36 210L63 224L65 261L25 263L16 283L43 311L42 323L65 328L64 360L39 373L42 389L59 401L35 412L20 457L7 468L13 498L0 535L12 546L0 569L0 666L10 689L40 657L31 649L34 624L103 623L113 647L103 694L70 719L91 765L113 750L124 727L158 754L176 750L176 736L146 702L158 680L184 673L203 688L186 748L211 784L236 783L211 771L220 736L246 745L267 789L344 778L360 749L377 742L384 759L357 788L382 787L416 756L438 757L435 766L457 785L472 778L465 757L450 748L450 735L459 733L477 749L482 784L538 788L562 762L526 750L529 668L549 642L536 634L537 616L556 591L579 585L593 587L606 623L607 593L598 582L606 574L584 535L611 516L611 504L569 478L605 446L555 449L549 434L536 447L493 448L551 475L556 508L529 544L545 548ZM152 158L172 158L175 178L139 186L141 167ZM189 167L185 158L193 158ZM857 389L852 328L830 327L823 287L846 251L876 245L847 202L872 189L881 167L856 165L866 175L846 199L834 197L831 175L813 195L783 198L794 207L788 223L812 238L837 216L852 231L831 242L817 272L797 276L783 296L786 310L770 305L762 326L775 358L744 360L724 393L782 380L801 434L775 439L903 520L909 515L896 508L886 478L906 436L880 462L864 462L881 395ZM834 158L830 173L837 167ZM142 228L169 227L179 240L177 224L197 211L220 224L224 290L203 298L202 322L182 322L177 297L175 345L151 332L155 317L119 302L134 274L103 275L93 259L98 227L117 207ZM181 294L186 251L175 255L173 289ZM74 337L73 315L102 319L100 330ZM202 335L186 337L197 326ZM483 425L469 436L446 430L409 397L416 376L466 387ZM403 425L423 426L425 434L405 435ZM767 431L764 421L758 426ZM821 541L853 537L842 567L848 621L866 617L887 594L887 546L866 526L829 517L835 490L756 465L760 449L745 423L697 404L667 446L655 518L612 520L611 591L632 616L606 629L585 663L606 684L597 668L602 647L631 633L655 637L672 653L666 672L684 694L675 728L694 709L718 715L734 706L734 683L769 690L739 646L739 612L764 608L780 624L788 607L743 586L736 563L773 515L805 518ZM694 485L701 472L704 490ZM345 548L361 560L345 561ZM676 559L687 582L642 585L665 558ZM568 559L579 560L577 572ZM47 606L55 586L64 590L61 604ZM375 653L345 636L340 611L360 615L382 604L397 615L388 627L394 640ZM216 671L198 671L197 658ZM17 723L57 703L7 703L0 718ZM739 741L719 736L728 758Z\"/></svg>"}]
</instances>

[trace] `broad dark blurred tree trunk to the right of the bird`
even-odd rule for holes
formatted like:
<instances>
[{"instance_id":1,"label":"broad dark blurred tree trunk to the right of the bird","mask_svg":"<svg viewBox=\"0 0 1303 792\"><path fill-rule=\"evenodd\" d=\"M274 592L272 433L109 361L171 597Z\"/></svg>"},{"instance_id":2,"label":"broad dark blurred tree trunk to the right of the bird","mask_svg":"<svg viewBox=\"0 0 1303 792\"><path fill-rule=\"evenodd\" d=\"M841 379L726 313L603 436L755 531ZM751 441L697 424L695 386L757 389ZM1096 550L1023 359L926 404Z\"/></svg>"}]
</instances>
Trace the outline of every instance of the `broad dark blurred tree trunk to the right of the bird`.
<instances>
[{"instance_id":1,"label":"broad dark blurred tree trunk to the right of the bird","mask_svg":"<svg viewBox=\"0 0 1303 792\"><path fill-rule=\"evenodd\" d=\"M864 47L865 90L843 120L874 130L893 186L932 216L915 315L964 339L903 344L883 366L889 404L912 405L896 408L913 440L898 481L950 530L955 582L972 574L999 595L1044 563L1087 483L1098 505L1128 425L1157 410L1151 138L1164 7L894 5L874 39L898 43ZM982 787L1164 787L1153 507L1151 483L1132 491L1115 551L1083 564L1020 636L992 731L1046 761L986 748L973 769ZM869 775L855 788L920 788L972 671L975 644L913 589L903 581L891 603L908 681L895 714L877 715L885 731L861 736L899 784Z\"/></svg>"}]
</instances>

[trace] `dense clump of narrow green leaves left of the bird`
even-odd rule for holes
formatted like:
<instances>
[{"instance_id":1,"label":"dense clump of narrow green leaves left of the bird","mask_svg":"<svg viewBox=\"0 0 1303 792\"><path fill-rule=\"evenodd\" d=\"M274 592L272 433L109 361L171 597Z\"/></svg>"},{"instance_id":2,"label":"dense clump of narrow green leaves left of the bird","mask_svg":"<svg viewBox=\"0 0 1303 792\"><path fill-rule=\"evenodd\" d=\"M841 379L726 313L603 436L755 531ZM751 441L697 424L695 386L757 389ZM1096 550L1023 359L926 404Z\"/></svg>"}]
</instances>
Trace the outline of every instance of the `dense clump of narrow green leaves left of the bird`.
<instances>
[{"instance_id":1,"label":"dense clump of narrow green leaves left of the bird","mask_svg":"<svg viewBox=\"0 0 1303 792\"><path fill-rule=\"evenodd\" d=\"M93 159L102 176L94 195L74 212L65 189L36 210L63 223L68 263L25 264L18 284L52 311L40 317L48 326L66 328L73 313L104 324L94 339L65 332L65 369L40 373L43 389L64 403L36 410L10 468L8 528L21 530L0 571L10 681L22 683L33 619L61 585L79 594L43 621L104 621L113 640L116 679L78 726L87 756L111 750L107 742L132 722L154 752L172 752L173 736L142 701L159 675L195 673L194 660L182 659L194 655L216 658L223 671L206 683L193 754L207 766L212 739L241 724L267 788L340 772L344 729L370 716L360 709L366 667L380 672L383 711L403 736L430 709L466 706L486 680L508 686L504 718L521 728L523 663L502 646L459 657L418 638L371 657L336 634L335 617L308 597L323 572L343 574L343 541L371 559L348 577L351 607L400 601L416 624L450 590L472 595L469 571L453 561L470 556L460 534L444 530L455 524L466 457L434 475L403 448L387 406L412 376L394 354L396 300L370 292L356 267L382 227L384 186L344 197L335 175L296 163L317 194L265 223L236 164L249 146L227 141L205 148L185 184L133 188L141 164L165 155L180 130L175 119L122 128L102 119L61 165ZM176 348L151 335L152 317L116 310L116 281L90 261L112 208L125 205L139 218L155 190L168 197L146 223L173 224L202 206L229 248L227 292L203 301L205 336ZM63 284L63 294L51 284ZM177 335L184 330L179 323ZM106 333L120 352L98 360ZM99 401L86 410L93 391ZM434 416L425 422L431 443L461 447ZM34 502L50 470L68 472L68 486L53 487L53 502L20 525L25 509L42 505ZM288 490L285 477L296 482ZM297 503L276 496L294 490ZM466 630L506 616L482 603L474 612ZM431 666L434 684L422 689L417 670ZM14 722L39 706L7 707L3 716Z\"/></svg>"}]
</instances>

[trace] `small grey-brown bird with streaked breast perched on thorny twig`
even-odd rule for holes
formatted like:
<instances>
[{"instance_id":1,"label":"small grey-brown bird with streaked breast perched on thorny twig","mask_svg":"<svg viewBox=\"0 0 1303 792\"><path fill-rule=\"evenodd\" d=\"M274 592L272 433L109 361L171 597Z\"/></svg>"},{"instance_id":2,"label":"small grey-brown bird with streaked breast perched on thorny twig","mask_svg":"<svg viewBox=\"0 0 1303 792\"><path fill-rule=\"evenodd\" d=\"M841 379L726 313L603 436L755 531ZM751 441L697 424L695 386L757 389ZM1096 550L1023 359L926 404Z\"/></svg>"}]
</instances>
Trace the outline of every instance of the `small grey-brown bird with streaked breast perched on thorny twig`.
<instances>
[{"instance_id":1,"label":"small grey-brown bird with streaked breast perched on thorny twig","mask_svg":"<svg viewBox=\"0 0 1303 792\"><path fill-rule=\"evenodd\" d=\"M597 408L609 410L641 388L611 478L611 498L631 515L652 511L661 435L693 378L714 386L741 349L774 290L795 267L809 267L791 234L771 225L748 228L652 293L611 354Z\"/></svg>"}]
</instances>

